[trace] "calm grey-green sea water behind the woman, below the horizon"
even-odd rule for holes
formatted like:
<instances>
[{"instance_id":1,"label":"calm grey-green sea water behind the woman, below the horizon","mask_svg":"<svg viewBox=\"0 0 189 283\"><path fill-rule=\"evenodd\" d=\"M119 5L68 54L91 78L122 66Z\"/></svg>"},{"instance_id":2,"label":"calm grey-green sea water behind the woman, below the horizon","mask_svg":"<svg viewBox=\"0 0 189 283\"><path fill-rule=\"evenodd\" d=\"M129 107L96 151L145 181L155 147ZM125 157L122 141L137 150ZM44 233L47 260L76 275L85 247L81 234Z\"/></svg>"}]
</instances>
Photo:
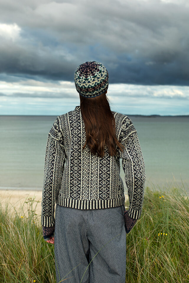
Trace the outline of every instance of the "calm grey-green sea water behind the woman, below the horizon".
<instances>
[{"instance_id":1,"label":"calm grey-green sea water behind the woman, below the horizon","mask_svg":"<svg viewBox=\"0 0 189 283\"><path fill-rule=\"evenodd\" d=\"M0 116L1 189L42 190L46 141L56 117ZM189 116L129 117L144 157L145 187L182 181L188 186ZM120 174L127 192L122 168Z\"/></svg>"}]
</instances>

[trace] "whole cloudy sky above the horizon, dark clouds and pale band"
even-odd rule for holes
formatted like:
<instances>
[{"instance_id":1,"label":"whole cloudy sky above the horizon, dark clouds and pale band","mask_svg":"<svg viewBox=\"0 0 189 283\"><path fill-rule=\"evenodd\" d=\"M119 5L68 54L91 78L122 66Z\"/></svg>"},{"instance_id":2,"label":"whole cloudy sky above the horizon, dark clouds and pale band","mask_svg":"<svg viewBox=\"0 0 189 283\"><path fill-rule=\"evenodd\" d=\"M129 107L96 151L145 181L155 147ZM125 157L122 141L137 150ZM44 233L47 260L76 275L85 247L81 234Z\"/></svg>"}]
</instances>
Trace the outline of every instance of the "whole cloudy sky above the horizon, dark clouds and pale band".
<instances>
[{"instance_id":1,"label":"whole cloudy sky above the horizon, dark clouds and pale band","mask_svg":"<svg viewBox=\"0 0 189 283\"><path fill-rule=\"evenodd\" d=\"M113 111L189 115L188 0L0 0L0 114L79 105L74 72L109 73Z\"/></svg>"}]
</instances>

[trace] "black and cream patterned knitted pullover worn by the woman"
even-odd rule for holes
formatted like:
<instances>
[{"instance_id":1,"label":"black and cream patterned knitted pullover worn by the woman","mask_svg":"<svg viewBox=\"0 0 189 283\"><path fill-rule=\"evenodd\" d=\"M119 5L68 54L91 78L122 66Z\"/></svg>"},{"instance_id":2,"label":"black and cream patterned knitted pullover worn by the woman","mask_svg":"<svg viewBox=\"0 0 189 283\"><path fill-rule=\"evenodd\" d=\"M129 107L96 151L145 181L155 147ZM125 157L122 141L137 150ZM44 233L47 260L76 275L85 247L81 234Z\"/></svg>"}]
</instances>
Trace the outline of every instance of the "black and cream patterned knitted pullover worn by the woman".
<instances>
[{"instance_id":1,"label":"black and cream patterned knitted pullover worn by the woman","mask_svg":"<svg viewBox=\"0 0 189 283\"><path fill-rule=\"evenodd\" d=\"M125 146L110 156L92 155L86 141L80 106L56 118L48 133L45 152L41 223L45 240L54 236L55 203L76 209L103 209L125 203L120 177L120 158L128 188L128 216L141 217L144 200L145 164L136 129L131 119L112 111L115 133Z\"/></svg>"}]
</instances>

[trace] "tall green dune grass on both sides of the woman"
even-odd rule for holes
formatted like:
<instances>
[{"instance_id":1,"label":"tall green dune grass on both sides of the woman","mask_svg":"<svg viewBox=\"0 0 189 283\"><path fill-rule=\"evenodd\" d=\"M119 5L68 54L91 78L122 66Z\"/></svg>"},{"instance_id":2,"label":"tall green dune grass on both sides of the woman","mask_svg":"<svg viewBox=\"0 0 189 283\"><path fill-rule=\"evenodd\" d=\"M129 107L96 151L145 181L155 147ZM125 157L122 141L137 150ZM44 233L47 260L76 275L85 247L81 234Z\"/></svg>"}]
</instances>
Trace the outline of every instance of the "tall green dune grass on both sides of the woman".
<instances>
[{"instance_id":1,"label":"tall green dune grass on both sides of the woman","mask_svg":"<svg viewBox=\"0 0 189 283\"><path fill-rule=\"evenodd\" d=\"M35 213L38 201L34 197L25 202L28 217L22 207L9 213L9 204L2 208L0 203L0 282L56 283L54 245L43 239ZM127 283L189 282L189 198L184 185L145 188L142 215L126 246Z\"/></svg>"}]
</instances>

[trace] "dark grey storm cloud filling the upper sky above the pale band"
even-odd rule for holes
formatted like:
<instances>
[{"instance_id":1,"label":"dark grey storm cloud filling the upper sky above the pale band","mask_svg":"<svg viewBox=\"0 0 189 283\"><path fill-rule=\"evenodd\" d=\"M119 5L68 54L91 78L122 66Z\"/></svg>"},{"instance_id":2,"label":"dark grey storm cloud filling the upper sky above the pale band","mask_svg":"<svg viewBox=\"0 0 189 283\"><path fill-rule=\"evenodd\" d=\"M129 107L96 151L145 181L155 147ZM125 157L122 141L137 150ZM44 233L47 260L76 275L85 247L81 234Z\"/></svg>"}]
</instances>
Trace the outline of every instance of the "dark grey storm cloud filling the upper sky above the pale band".
<instances>
[{"instance_id":1,"label":"dark grey storm cloud filling the upper sky above the pale band","mask_svg":"<svg viewBox=\"0 0 189 283\"><path fill-rule=\"evenodd\" d=\"M187 1L4 1L0 72L74 80L85 61L102 62L110 83L189 85Z\"/></svg>"}]
</instances>

